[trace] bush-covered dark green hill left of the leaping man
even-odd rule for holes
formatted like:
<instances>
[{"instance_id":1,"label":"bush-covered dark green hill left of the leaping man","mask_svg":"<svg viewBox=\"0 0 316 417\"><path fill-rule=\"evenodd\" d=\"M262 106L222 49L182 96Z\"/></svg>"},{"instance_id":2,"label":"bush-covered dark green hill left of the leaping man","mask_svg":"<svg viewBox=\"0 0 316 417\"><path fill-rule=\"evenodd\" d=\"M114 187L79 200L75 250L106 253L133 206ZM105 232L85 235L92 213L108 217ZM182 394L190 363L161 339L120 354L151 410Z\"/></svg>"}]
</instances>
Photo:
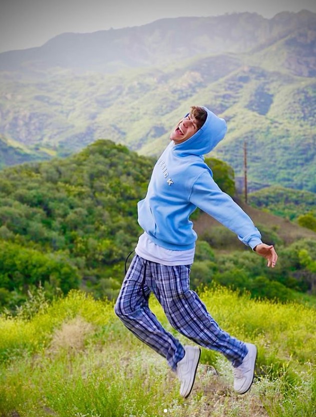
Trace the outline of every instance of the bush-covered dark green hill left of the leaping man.
<instances>
[{"instance_id":1,"label":"bush-covered dark green hill left of the leaping man","mask_svg":"<svg viewBox=\"0 0 316 417\"><path fill-rule=\"evenodd\" d=\"M140 232L137 201L152 164L124 146L98 141L69 159L4 171L0 303L9 299L12 307L40 282L51 296L56 287L66 293L80 283L96 296L115 297L122 262Z\"/></svg>"}]
</instances>

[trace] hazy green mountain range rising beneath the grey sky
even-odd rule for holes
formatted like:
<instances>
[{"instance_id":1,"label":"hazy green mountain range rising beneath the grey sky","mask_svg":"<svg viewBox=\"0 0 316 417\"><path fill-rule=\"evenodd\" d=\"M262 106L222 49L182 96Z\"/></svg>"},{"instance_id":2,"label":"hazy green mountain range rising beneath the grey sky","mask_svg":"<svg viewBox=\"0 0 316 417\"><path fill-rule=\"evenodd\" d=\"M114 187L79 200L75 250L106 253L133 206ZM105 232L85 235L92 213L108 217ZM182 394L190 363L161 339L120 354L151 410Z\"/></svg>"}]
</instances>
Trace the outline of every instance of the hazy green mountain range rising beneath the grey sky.
<instances>
[{"instance_id":1,"label":"hazy green mountain range rising beneath the grey sky","mask_svg":"<svg viewBox=\"0 0 316 417\"><path fill-rule=\"evenodd\" d=\"M196 104L226 119L226 138L212 154L237 177L246 142L250 189L279 184L316 192L311 12L62 34L40 48L0 54L0 82L2 143L28 149L32 159L68 155L99 138L157 155ZM20 162L11 155L5 164Z\"/></svg>"}]
</instances>

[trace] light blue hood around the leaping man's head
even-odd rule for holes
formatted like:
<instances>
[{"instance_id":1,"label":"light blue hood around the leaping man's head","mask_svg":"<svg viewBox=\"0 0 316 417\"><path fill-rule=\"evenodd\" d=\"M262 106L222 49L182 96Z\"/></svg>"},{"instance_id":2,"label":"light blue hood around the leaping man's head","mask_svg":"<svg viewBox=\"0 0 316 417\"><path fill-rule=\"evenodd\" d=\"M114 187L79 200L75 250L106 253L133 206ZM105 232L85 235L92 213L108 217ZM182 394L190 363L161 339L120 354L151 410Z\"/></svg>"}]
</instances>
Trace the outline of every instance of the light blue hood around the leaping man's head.
<instances>
[{"instance_id":1,"label":"light blue hood around the leaping man's head","mask_svg":"<svg viewBox=\"0 0 316 417\"><path fill-rule=\"evenodd\" d=\"M173 150L177 155L205 155L224 138L227 131L225 120L216 116L206 107L203 109L207 112L205 123L190 139L174 145Z\"/></svg>"}]
</instances>

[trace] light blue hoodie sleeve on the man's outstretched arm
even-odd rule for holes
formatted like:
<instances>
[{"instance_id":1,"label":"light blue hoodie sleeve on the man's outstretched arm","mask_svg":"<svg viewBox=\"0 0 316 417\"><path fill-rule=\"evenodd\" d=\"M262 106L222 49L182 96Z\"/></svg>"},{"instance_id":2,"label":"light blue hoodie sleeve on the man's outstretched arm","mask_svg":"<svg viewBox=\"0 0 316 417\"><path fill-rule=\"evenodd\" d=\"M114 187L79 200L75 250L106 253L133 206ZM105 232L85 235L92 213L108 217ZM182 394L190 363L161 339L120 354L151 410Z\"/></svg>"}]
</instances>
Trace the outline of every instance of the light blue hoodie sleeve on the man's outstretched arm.
<instances>
[{"instance_id":1,"label":"light blue hoodie sleeve on the man's outstretched arm","mask_svg":"<svg viewBox=\"0 0 316 417\"><path fill-rule=\"evenodd\" d=\"M250 217L219 188L209 172L202 173L194 182L189 200L234 232L251 249L262 243L260 232Z\"/></svg>"}]
</instances>

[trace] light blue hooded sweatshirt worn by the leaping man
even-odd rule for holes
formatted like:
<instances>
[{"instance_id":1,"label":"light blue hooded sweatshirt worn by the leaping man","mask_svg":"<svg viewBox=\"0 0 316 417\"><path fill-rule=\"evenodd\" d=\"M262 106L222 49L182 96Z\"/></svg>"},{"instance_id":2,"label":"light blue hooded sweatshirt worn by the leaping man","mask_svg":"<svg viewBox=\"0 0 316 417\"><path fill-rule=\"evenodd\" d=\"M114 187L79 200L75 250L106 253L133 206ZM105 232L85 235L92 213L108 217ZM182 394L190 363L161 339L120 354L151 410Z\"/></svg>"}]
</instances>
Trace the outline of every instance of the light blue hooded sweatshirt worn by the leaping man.
<instances>
[{"instance_id":1,"label":"light blue hooded sweatshirt worn by the leaping man","mask_svg":"<svg viewBox=\"0 0 316 417\"><path fill-rule=\"evenodd\" d=\"M158 159L146 197L138 202L138 223L156 245L174 251L193 249L197 235L189 220L199 207L252 249L261 235L251 219L212 178L203 155L225 136L224 119L207 111L204 125L186 141L171 141Z\"/></svg>"}]
</instances>

